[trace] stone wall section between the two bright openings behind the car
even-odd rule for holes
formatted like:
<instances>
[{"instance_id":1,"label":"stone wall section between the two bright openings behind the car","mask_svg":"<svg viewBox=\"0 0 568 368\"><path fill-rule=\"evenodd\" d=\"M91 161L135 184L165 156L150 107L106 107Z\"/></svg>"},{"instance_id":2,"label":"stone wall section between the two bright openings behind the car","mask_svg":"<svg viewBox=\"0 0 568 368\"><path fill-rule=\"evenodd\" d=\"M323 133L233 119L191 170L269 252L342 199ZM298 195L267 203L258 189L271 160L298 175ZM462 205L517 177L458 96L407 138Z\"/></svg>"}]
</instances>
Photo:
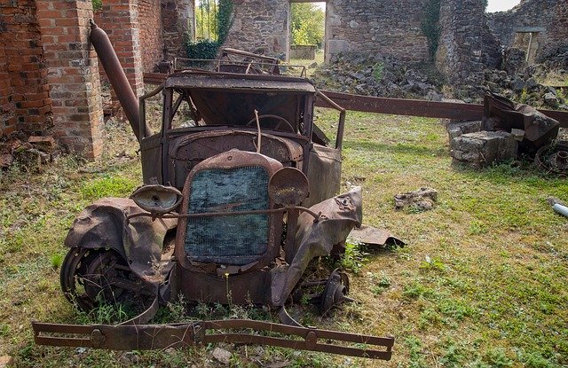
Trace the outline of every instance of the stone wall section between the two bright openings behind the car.
<instances>
[{"instance_id":1,"label":"stone wall section between the two bright openings behind the car","mask_svg":"<svg viewBox=\"0 0 568 368\"><path fill-rule=\"evenodd\" d=\"M287 0L233 0L234 23L225 46L270 56L288 54Z\"/></svg>"}]
</instances>

